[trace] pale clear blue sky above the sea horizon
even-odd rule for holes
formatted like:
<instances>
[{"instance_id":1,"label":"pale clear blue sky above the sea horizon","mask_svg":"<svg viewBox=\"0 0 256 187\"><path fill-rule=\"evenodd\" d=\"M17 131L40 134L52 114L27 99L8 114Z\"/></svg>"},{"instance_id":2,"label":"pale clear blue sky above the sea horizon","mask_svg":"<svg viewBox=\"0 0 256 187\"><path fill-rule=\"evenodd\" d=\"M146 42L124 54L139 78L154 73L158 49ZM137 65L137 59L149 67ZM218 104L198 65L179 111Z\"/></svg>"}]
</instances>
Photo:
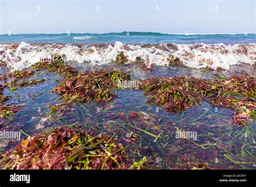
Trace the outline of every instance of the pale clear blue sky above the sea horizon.
<instances>
[{"instance_id":1,"label":"pale clear blue sky above the sea horizon","mask_svg":"<svg viewBox=\"0 0 256 187\"><path fill-rule=\"evenodd\" d=\"M256 33L255 1L0 1L1 33Z\"/></svg>"}]
</instances>

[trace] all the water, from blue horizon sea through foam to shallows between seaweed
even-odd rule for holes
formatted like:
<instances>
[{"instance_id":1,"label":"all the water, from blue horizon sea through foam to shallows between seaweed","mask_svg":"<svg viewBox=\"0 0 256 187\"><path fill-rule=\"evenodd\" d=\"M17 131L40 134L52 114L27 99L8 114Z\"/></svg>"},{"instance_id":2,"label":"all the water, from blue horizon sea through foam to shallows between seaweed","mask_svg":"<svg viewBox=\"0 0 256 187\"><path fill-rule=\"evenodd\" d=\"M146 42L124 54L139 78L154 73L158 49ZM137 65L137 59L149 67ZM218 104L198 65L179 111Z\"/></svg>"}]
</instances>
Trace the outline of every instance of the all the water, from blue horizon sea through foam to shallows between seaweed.
<instances>
[{"instance_id":1,"label":"all the water, from blue horizon sea through foam to shallows between seaweed","mask_svg":"<svg viewBox=\"0 0 256 187\"><path fill-rule=\"evenodd\" d=\"M0 60L7 67L0 66L0 75L15 69L29 68L42 59L51 59L59 54L65 63L79 70L99 70L106 68L124 69L132 78L188 76L211 78L218 71L203 71L209 66L213 69L224 68L218 74L230 76L233 73L249 73L255 77L256 35L255 34L160 34L126 32L108 34L2 34L0 35ZM47 44L50 42L51 44ZM113 43L91 45L92 43ZM159 44L157 43L159 42ZM13 45L18 43L18 45ZM35 44L31 44L35 43ZM46 44L39 44L46 43ZM52 44L55 43L55 44ZM57 44L56 44L57 43ZM61 43L61 44L58 44ZM72 43L84 43L83 45ZM166 43L172 43L166 44ZM200 43L200 44L198 44ZM144 45L156 44L156 45ZM127 57L124 64L113 63L117 55L123 53ZM170 55L183 61L185 67L169 67ZM146 66L153 70L142 69L134 61L140 57ZM35 135L52 130L53 127L73 126L93 134L113 135L125 148L130 160L139 161L147 158L150 168L154 169L189 169L187 163L207 163L213 169L255 169L253 160L255 146L255 120L246 127L230 124L234 110L218 108L210 103L202 102L184 112L171 113L154 103L147 103L147 97L141 90L117 90L117 98L110 103L71 103L62 105L68 109L65 115L60 110L52 113L51 107L62 103L56 93L52 92L60 81L58 74L39 70L27 78L45 79L45 82L31 87L18 87L15 91L4 89L4 95L11 96L6 103L22 104L23 108L12 117L12 123L0 125L0 130L24 132ZM4 84L4 81L0 81ZM40 109L40 112L38 111ZM100 109L100 112L97 110ZM156 110L159 109L159 110ZM146 126L152 134L159 134L159 126L163 138L156 139L137 128L127 126L116 114L139 112L146 118L131 121L131 125ZM38 113L37 113L38 112ZM73 127L76 127L73 126ZM154 128L153 128L154 127ZM176 127L184 131L197 132L198 145L211 143L202 149L191 141L177 140ZM144 128L144 127L143 127ZM127 143L126 134L138 134L135 143ZM242 132L247 132L245 138ZM239 135L241 134L241 135ZM251 135L250 135L251 134ZM22 139L26 138L22 134ZM0 153L18 145L21 141L10 142L0 139ZM247 145L243 147L243 145ZM249 145L249 146L248 146ZM241 150L245 150L243 154ZM225 154L235 161L246 164L234 164ZM252 156L251 156L252 155ZM161 159L160 163L156 159ZM218 158L218 163L215 159Z\"/></svg>"}]
</instances>

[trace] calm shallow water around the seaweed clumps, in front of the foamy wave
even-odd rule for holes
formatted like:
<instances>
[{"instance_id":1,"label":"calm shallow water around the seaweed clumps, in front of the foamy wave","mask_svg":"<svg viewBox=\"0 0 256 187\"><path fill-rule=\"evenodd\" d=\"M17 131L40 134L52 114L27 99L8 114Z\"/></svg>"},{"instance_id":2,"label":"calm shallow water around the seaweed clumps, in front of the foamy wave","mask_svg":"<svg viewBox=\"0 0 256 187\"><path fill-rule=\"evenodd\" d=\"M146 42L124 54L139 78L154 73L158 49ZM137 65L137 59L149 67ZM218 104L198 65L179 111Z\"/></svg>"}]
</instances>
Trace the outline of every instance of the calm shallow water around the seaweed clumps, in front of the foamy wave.
<instances>
[{"instance_id":1,"label":"calm shallow water around the seaweed clumps, in front of the foamy wave","mask_svg":"<svg viewBox=\"0 0 256 187\"><path fill-rule=\"evenodd\" d=\"M80 70L122 68L131 71L134 79L174 76L211 78L215 73L230 76L233 73L244 73L245 69L250 76L256 76L254 67L248 64L232 66L230 70L221 72L204 72L202 69L185 67L154 67L149 71L130 65L109 64L92 67L86 63L75 62L70 62L70 65ZM0 68L0 74L5 71ZM232 109L214 107L203 102L186 111L172 113L147 103L143 91L124 89L117 90L118 97L110 103L73 103L69 106L61 105L58 111L51 112L51 106L62 103L60 96L51 92L62 77L42 70L30 78L44 78L46 81L15 91L4 90L4 95L12 96L6 103L24 104L24 107L12 118L13 122L1 125L1 130L21 129L29 135L35 135L57 126L69 126L93 134L103 133L122 143L130 160L139 161L145 156L147 166L152 169L187 169L194 163L207 163L212 169L256 169L256 121L246 127L231 124L230 120L234 114ZM60 109L68 110L63 115ZM131 112L139 112L143 118L125 121L123 118ZM123 113L124 117L120 117L120 113ZM146 127L146 132L150 134L141 131L141 127ZM177 138L178 130L194 132L196 136L190 139ZM136 137L133 142L129 140L131 134ZM25 138L22 134L22 139ZM1 152L9 150L21 141L0 140Z\"/></svg>"}]
</instances>

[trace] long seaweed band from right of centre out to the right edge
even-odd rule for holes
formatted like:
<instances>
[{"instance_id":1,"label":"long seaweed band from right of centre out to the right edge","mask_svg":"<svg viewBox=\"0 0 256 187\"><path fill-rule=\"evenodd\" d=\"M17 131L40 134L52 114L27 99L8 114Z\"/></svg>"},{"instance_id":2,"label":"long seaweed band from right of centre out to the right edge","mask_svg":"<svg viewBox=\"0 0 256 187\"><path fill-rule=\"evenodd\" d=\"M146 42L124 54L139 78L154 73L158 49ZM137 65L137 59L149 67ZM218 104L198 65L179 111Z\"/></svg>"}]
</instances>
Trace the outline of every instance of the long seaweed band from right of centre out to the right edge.
<instances>
[{"instance_id":1,"label":"long seaweed band from right of centre out to the right edge","mask_svg":"<svg viewBox=\"0 0 256 187\"><path fill-rule=\"evenodd\" d=\"M151 77L142 81L140 89L154 102L172 112L179 112L205 100L217 107L236 109L233 123L246 124L255 118L256 78L245 75L213 80L170 77Z\"/></svg>"}]
</instances>

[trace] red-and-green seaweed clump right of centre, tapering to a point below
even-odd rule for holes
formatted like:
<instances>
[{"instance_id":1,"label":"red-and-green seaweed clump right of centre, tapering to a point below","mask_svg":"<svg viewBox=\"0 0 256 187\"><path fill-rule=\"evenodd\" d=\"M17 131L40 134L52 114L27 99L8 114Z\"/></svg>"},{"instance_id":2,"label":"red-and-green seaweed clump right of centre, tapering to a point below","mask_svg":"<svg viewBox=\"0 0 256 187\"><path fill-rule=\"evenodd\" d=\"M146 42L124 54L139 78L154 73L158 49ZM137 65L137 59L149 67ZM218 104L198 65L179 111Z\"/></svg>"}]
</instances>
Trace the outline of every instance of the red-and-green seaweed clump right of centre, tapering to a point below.
<instances>
[{"instance_id":1,"label":"red-and-green seaweed clump right of centre, tapering to a point below","mask_svg":"<svg viewBox=\"0 0 256 187\"><path fill-rule=\"evenodd\" d=\"M194 77L151 77L141 82L140 89L145 91L145 95L151 96L149 102L172 112L179 112L200 103L199 88L206 88L205 82Z\"/></svg>"}]
</instances>

